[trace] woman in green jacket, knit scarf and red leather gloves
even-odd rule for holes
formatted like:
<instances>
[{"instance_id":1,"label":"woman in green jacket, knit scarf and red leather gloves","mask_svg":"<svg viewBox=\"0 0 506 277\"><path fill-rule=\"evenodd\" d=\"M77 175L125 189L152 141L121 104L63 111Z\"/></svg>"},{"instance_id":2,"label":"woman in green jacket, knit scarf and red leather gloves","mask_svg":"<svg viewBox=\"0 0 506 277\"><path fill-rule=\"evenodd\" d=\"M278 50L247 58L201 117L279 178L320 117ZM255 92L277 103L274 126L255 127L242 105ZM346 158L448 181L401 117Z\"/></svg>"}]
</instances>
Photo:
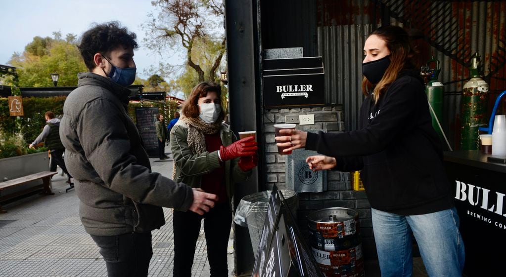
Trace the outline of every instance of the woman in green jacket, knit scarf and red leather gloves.
<instances>
[{"instance_id":1,"label":"woman in green jacket, knit scarf and red leather gloves","mask_svg":"<svg viewBox=\"0 0 506 277\"><path fill-rule=\"evenodd\" d=\"M183 116L172 128L173 178L218 196L205 215L174 211L174 277L190 277L195 246L204 219L210 276L227 277L227 245L232 226L231 199L235 182L246 180L257 166L254 137L233 142L234 133L222 124L221 87L196 85L183 104Z\"/></svg>"}]
</instances>

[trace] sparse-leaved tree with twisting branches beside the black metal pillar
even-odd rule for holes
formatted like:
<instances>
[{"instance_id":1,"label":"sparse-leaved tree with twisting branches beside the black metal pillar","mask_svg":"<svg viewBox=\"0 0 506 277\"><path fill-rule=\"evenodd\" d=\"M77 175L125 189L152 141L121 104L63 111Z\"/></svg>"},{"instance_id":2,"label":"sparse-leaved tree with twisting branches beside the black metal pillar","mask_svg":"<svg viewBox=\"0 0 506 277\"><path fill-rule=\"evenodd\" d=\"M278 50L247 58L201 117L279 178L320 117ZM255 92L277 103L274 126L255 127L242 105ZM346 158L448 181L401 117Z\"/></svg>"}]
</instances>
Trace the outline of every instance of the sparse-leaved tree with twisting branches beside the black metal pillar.
<instances>
[{"instance_id":1,"label":"sparse-leaved tree with twisting branches beside the black metal pillar","mask_svg":"<svg viewBox=\"0 0 506 277\"><path fill-rule=\"evenodd\" d=\"M186 65L197 75L197 83L215 82L216 71L225 53L223 2L220 0L157 0L152 2L160 12L144 24L148 47L161 53L165 48L180 45L186 51ZM221 27L219 27L221 24ZM220 31L216 31L216 30ZM205 62L197 61L196 45L213 45L214 52ZM200 50L202 50L200 48ZM208 49L206 49L207 51ZM205 54L205 53L204 53ZM205 55L204 55L205 56Z\"/></svg>"}]
</instances>

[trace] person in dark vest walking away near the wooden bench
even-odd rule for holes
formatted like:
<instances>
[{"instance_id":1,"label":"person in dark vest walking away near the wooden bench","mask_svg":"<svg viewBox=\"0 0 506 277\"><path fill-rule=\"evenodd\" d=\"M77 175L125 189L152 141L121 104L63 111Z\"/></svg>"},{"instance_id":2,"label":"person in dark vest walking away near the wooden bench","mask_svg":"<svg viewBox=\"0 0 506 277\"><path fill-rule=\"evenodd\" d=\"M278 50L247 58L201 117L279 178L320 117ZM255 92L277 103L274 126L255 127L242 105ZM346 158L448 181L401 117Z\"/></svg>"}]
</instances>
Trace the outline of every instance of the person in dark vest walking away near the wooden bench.
<instances>
[{"instance_id":1,"label":"person in dark vest walking away near the wooden bench","mask_svg":"<svg viewBox=\"0 0 506 277\"><path fill-rule=\"evenodd\" d=\"M67 174L68 180L67 182L70 184L70 187L74 186L72 182L72 176L68 173L67 167L65 166L65 161L63 160L63 153L65 152L65 147L60 140L60 119L55 118L55 114L52 111L47 111L44 114L46 118L46 126L42 132L35 138L28 147L35 149L36 145L41 142L44 142L44 146L49 149L51 152L51 162L50 162L50 171L56 171L56 166L60 166L60 168Z\"/></svg>"}]
</instances>

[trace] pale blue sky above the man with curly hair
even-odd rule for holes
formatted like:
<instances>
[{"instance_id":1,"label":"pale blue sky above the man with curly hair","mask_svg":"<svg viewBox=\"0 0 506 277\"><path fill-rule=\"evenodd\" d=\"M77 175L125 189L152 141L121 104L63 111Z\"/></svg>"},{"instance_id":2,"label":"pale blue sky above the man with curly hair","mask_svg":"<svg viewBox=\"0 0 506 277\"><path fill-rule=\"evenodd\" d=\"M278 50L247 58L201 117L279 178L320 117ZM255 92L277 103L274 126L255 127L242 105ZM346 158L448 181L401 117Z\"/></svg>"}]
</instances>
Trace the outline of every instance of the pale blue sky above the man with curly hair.
<instances>
[{"instance_id":1,"label":"pale blue sky above the man with curly hair","mask_svg":"<svg viewBox=\"0 0 506 277\"><path fill-rule=\"evenodd\" d=\"M150 0L0 0L0 64L7 64L15 52L22 53L35 36L53 37L60 31L63 38L67 33L80 38L93 23L114 20L137 34L137 75L147 79L151 65L184 63L181 51L160 56L145 47L141 24L150 12L158 14Z\"/></svg>"}]
</instances>

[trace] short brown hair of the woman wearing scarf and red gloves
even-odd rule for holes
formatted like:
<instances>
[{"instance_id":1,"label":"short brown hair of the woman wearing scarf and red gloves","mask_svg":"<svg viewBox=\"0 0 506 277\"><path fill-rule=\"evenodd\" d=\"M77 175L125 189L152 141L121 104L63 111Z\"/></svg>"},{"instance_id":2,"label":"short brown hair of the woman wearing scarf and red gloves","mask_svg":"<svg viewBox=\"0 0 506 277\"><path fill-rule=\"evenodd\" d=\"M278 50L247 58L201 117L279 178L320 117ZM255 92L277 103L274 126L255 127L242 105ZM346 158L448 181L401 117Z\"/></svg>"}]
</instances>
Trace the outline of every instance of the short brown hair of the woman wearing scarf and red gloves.
<instances>
[{"instance_id":1,"label":"short brown hair of the woman wearing scarf and red gloves","mask_svg":"<svg viewBox=\"0 0 506 277\"><path fill-rule=\"evenodd\" d=\"M200 115L198 109L198 99L206 97L207 93L210 91L214 91L218 95L221 105L221 86L216 83L201 82L192 89L190 96L186 99L185 103L183 103L183 108L181 109L183 115L186 117L197 118ZM223 113L222 108L217 122L221 122L224 117L225 114Z\"/></svg>"}]
</instances>

